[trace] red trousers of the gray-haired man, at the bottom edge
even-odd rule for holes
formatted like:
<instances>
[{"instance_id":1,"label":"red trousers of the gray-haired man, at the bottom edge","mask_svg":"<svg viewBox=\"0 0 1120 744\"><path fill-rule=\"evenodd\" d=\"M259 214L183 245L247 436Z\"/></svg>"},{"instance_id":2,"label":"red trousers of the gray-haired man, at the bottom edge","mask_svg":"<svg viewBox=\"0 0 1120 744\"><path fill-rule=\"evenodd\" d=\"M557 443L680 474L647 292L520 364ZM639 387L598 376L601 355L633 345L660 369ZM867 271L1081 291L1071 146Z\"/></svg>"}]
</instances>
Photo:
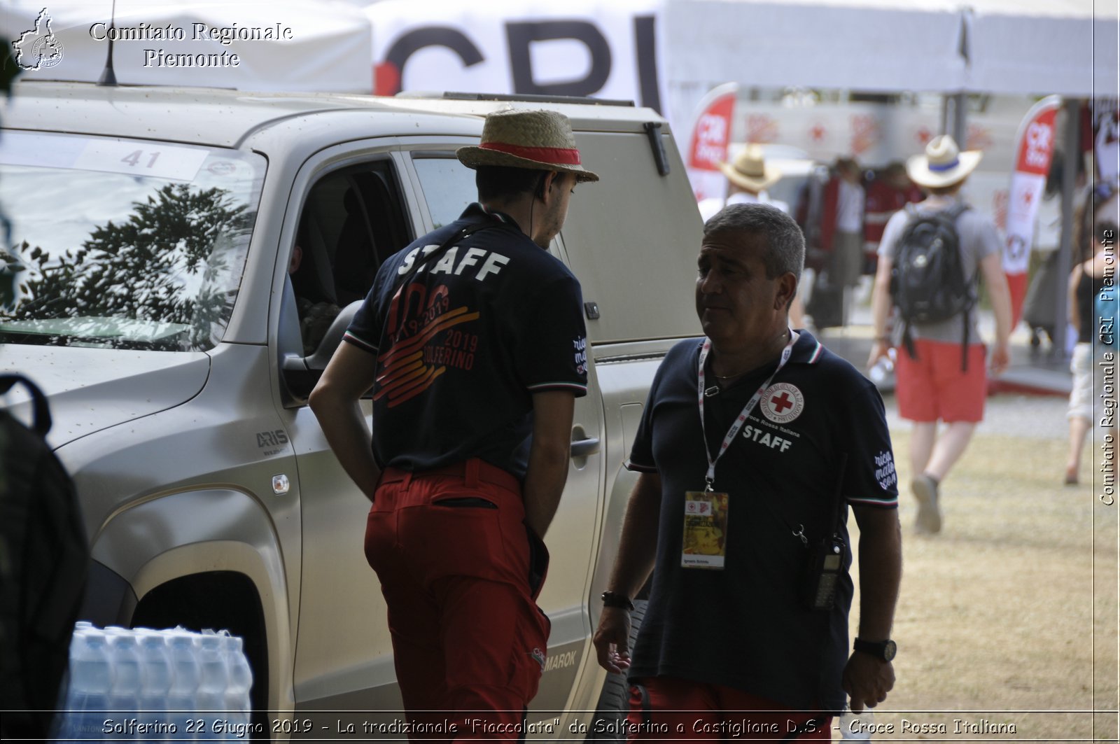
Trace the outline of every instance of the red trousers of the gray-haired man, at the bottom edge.
<instances>
[{"instance_id":1,"label":"red trousers of the gray-haired man, at the bottom edge","mask_svg":"<svg viewBox=\"0 0 1120 744\"><path fill-rule=\"evenodd\" d=\"M829 742L832 718L793 710L773 700L722 685L675 677L646 677L631 686L627 740L782 742L799 727L795 742Z\"/></svg>"}]
</instances>

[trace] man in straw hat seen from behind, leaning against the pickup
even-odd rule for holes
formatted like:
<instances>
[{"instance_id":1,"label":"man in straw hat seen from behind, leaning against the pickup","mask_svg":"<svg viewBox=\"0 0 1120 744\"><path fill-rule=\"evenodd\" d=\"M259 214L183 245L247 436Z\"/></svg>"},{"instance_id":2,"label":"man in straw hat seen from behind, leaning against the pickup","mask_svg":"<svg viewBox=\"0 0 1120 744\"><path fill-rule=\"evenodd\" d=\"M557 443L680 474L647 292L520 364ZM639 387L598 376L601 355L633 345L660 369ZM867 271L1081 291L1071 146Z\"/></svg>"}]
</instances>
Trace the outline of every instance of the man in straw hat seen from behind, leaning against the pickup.
<instances>
[{"instance_id":1,"label":"man in straw hat seen from behind, leaning against the pickup","mask_svg":"<svg viewBox=\"0 0 1120 744\"><path fill-rule=\"evenodd\" d=\"M478 203L385 261L310 404L373 502L365 555L413 735L516 740L548 649L541 537L587 391L579 282L548 247L598 176L551 111L493 113L457 157Z\"/></svg>"}]
</instances>

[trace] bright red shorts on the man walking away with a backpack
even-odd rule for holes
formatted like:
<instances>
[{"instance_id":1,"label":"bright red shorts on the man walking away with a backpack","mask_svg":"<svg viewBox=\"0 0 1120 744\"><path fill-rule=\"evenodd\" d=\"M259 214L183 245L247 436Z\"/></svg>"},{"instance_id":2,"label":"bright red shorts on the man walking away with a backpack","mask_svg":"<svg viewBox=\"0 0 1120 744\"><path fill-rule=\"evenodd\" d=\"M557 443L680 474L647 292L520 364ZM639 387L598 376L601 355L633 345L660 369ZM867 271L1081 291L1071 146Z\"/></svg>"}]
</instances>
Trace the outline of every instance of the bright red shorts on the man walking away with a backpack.
<instances>
[{"instance_id":1,"label":"bright red shorts on the man walking away with a backpack","mask_svg":"<svg viewBox=\"0 0 1120 744\"><path fill-rule=\"evenodd\" d=\"M988 373L983 344L969 345L969 369L961 371L961 345L917 338L917 359L898 350L895 396L898 415L911 421L971 421L983 419Z\"/></svg>"}]
</instances>

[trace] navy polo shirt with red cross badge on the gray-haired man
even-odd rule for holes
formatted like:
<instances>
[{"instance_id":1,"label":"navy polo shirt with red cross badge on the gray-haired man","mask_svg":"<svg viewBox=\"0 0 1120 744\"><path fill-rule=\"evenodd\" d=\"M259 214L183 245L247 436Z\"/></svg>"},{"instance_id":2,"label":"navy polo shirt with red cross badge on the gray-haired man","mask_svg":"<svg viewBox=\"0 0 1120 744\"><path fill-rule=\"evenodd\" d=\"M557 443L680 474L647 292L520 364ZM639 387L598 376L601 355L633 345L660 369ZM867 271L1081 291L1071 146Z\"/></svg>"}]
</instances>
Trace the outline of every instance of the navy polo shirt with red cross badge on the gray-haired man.
<instances>
[{"instance_id":1,"label":"navy polo shirt with red cross badge on the gray-haired man","mask_svg":"<svg viewBox=\"0 0 1120 744\"><path fill-rule=\"evenodd\" d=\"M702 491L708 469L697 391L701 342L681 342L665 356L626 464L659 473L662 483L652 595L629 675L680 677L793 708L839 710L852 584L844 574L832 612L804 608L809 549L795 532L810 545L830 536L838 493L844 521L847 504L897 508L883 399L802 331L716 466L713 487L729 494L725 568L682 568L684 492ZM711 453L776 366L706 398ZM707 381L713 382L710 373ZM840 534L848 543L846 526Z\"/></svg>"}]
</instances>

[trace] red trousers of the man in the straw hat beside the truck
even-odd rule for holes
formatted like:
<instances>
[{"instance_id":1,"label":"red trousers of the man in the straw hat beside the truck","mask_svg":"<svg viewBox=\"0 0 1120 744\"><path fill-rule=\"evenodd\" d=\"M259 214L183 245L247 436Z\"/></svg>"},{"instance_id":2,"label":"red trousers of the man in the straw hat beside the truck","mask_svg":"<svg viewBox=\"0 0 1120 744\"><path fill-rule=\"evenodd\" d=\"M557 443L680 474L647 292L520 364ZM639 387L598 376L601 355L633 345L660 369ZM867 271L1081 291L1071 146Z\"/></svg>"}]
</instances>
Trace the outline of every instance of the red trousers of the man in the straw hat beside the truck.
<instances>
[{"instance_id":1,"label":"red trousers of the man in the straw hat beside the truck","mask_svg":"<svg viewBox=\"0 0 1120 744\"><path fill-rule=\"evenodd\" d=\"M548 552L524 518L517 480L478 459L381 477L365 556L389 608L404 708L428 727L417 738L521 736L549 638L535 602ZM435 728L463 720L484 725Z\"/></svg>"}]
</instances>

